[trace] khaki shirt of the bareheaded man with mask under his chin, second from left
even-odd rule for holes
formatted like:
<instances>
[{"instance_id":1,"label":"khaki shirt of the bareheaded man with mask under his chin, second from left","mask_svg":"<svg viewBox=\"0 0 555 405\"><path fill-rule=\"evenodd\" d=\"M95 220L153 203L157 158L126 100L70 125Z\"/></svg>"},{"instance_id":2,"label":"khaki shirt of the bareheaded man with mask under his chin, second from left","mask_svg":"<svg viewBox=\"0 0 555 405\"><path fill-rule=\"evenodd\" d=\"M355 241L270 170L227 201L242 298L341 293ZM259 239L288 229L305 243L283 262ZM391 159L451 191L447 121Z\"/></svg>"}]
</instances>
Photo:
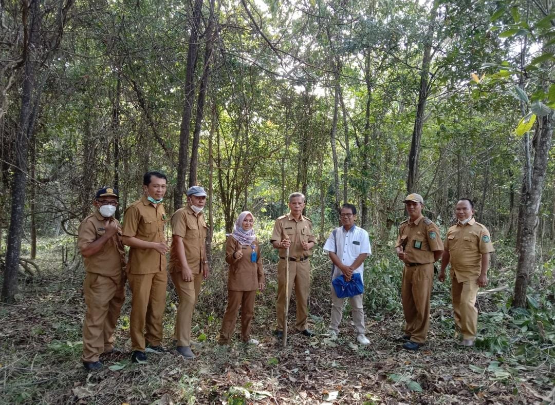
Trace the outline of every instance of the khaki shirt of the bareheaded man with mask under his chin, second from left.
<instances>
[{"instance_id":1,"label":"khaki shirt of the bareheaded man with mask under his chin, second from left","mask_svg":"<svg viewBox=\"0 0 555 405\"><path fill-rule=\"evenodd\" d=\"M153 206L147 197L132 203L123 216L123 236L147 242L163 243L166 212L162 204ZM152 274L164 271L168 264L165 255L156 249L129 249L127 271L131 274Z\"/></svg>"}]
</instances>

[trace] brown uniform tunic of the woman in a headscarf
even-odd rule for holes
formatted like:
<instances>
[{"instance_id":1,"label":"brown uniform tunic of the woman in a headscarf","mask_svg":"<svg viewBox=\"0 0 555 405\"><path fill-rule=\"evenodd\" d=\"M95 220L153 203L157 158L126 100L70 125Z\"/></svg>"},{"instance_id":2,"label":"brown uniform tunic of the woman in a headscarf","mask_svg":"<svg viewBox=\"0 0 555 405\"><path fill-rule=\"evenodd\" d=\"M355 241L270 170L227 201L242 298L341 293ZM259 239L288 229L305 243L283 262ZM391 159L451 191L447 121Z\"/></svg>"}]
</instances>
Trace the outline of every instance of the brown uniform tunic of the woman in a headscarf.
<instances>
[{"instance_id":1,"label":"brown uniform tunic of the woman in a headscarf","mask_svg":"<svg viewBox=\"0 0 555 405\"><path fill-rule=\"evenodd\" d=\"M228 290L231 291L255 291L258 283L264 283L264 270L258 240L251 245L241 245L233 236L228 236L225 244L225 261L229 263ZM235 252L243 253L240 259L234 259ZM256 252L256 262L251 262L251 254Z\"/></svg>"}]
</instances>

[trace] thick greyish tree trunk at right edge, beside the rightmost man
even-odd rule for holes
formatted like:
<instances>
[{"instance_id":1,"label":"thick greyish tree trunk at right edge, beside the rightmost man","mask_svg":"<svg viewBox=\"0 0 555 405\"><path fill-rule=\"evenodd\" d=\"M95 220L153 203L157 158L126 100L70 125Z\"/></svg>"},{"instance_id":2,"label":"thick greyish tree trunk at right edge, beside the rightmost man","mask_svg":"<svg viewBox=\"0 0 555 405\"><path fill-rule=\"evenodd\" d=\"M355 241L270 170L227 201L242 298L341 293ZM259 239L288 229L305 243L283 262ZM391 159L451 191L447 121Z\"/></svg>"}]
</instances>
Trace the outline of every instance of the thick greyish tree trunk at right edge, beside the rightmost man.
<instances>
[{"instance_id":1,"label":"thick greyish tree trunk at right edge, beside the rightmost man","mask_svg":"<svg viewBox=\"0 0 555 405\"><path fill-rule=\"evenodd\" d=\"M532 140L533 166L529 173L524 173L522 182L521 204L518 209L518 265L514 282L513 307L526 307L526 290L530 275L533 274L536 265L538 211L542 199L543 182L546 177L554 120L555 112L551 112L539 120Z\"/></svg>"}]
</instances>

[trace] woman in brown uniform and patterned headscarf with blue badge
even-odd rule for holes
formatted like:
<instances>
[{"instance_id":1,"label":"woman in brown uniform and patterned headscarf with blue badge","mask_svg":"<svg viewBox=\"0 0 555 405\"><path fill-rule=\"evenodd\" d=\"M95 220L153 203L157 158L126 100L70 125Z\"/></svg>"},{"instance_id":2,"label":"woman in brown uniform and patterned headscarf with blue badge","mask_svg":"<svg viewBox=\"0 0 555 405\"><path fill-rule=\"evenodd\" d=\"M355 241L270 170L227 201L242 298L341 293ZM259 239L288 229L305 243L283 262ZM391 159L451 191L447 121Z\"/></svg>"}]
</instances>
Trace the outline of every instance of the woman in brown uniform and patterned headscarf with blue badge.
<instances>
[{"instance_id":1,"label":"woman in brown uniform and patterned headscarf with blue badge","mask_svg":"<svg viewBox=\"0 0 555 405\"><path fill-rule=\"evenodd\" d=\"M243 211L235 221L233 233L225 245L225 261L229 263L228 307L221 322L220 345L229 345L241 306L241 341L258 345L250 338L256 290L264 290L264 270L260 245L253 230L254 217Z\"/></svg>"}]
</instances>

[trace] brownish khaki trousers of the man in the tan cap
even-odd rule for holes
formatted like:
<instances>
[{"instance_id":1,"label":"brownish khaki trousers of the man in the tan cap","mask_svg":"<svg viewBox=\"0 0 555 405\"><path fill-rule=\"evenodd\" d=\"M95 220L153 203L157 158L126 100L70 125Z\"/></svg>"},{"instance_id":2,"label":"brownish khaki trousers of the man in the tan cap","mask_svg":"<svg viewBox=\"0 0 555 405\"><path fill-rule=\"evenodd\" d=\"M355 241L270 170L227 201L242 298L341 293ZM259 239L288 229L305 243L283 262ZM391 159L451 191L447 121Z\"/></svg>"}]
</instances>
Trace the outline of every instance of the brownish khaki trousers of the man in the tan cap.
<instances>
[{"instance_id":1,"label":"brownish khaki trousers of the man in the tan cap","mask_svg":"<svg viewBox=\"0 0 555 405\"><path fill-rule=\"evenodd\" d=\"M433 264L406 266L403 269L401 300L405 313L405 334L411 341L424 343L430 329L430 295L433 286Z\"/></svg>"}]
</instances>

